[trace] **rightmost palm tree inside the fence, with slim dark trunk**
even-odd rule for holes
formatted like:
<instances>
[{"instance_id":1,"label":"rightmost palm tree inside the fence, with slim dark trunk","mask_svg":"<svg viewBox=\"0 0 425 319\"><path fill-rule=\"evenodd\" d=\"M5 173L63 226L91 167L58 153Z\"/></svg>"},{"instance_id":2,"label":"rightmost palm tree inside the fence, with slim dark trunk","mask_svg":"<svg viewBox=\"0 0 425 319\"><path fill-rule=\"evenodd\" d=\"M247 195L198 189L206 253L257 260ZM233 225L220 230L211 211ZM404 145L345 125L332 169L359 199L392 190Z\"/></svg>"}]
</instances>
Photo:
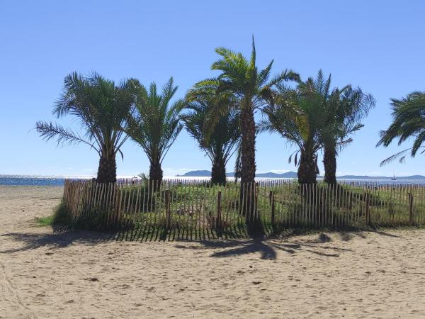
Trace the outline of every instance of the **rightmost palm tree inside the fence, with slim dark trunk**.
<instances>
[{"instance_id":1,"label":"rightmost palm tree inside the fence, with slim dark trunk","mask_svg":"<svg viewBox=\"0 0 425 319\"><path fill-rule=\"evenodd\" d=\"M303 94L317 96L317 107L327 115L319 137L324 150L324 181L336 183L336 155L342 147L352 142L351 134L363 127L361 121L368 115L375 100L370 94L364 94L360 88L346 85L342 89L331 87L331 75L324 78L320 69L316 79L308 79L300 84Z\"/></svg>"}]
</instances>

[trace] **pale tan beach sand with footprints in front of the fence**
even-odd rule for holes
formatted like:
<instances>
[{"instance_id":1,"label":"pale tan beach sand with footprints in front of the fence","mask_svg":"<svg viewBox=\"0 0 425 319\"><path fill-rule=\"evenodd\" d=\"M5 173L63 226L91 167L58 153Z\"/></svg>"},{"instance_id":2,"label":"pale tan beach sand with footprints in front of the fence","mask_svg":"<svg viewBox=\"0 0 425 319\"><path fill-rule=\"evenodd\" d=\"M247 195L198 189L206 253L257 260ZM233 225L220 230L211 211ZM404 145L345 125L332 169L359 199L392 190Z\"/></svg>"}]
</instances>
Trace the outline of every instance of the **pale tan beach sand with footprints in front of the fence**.
<instances>
[{"instance_id":1,"label":"pale tan beach sand with footprints in front of the fence","mask_svg":"<svg viewBox=\"0 0 425 319\"><path fill-rule=\"evenodd\" d=\"M115 242L36 225L61 196L0 186L0 318L425 316L425 230Z\"/></svg>"}]
</instances>

